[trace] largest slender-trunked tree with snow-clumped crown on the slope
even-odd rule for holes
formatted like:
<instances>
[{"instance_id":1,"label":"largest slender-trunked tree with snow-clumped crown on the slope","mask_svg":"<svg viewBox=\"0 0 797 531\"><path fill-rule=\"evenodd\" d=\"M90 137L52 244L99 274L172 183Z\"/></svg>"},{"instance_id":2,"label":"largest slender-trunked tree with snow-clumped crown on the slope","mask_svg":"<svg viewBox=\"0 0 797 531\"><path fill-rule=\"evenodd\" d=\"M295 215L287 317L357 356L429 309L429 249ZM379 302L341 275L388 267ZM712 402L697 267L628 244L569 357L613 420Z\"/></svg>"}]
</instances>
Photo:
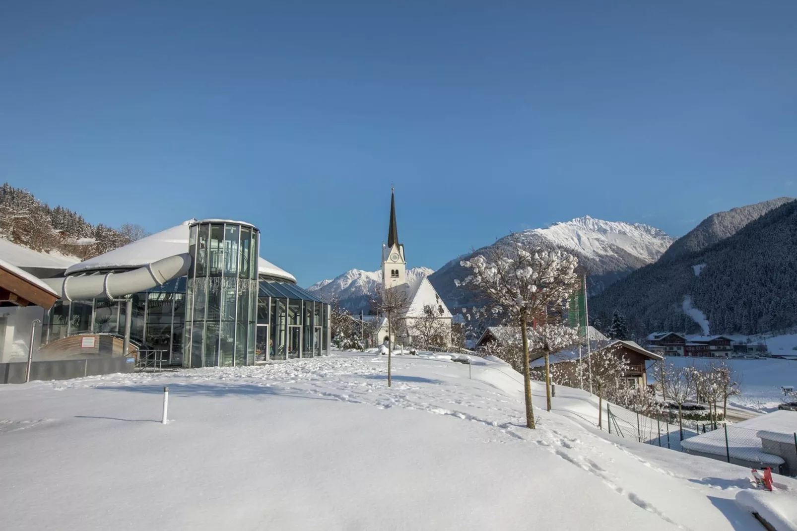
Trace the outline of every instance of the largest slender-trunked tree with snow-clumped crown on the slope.
<instances>
[{"instance_id":1,"label":"largest slender-trunked tree with snow-clumped crown on the slope","mask_svg":"<svg viewBox=\"0 0 797 531\"><path fill-rule=\"evenodd\" d=\"M520 327L523 345L526 425L535 427L528 354L528 325L544 316L548 306L567 300L579 286L578 260L561 250L548 250L512 234L505 245L489 247L460 265L471 274L455 281L483 293L508 325ZM550 380L549 377L547 380Z\"/></svg>"}]
</instances>

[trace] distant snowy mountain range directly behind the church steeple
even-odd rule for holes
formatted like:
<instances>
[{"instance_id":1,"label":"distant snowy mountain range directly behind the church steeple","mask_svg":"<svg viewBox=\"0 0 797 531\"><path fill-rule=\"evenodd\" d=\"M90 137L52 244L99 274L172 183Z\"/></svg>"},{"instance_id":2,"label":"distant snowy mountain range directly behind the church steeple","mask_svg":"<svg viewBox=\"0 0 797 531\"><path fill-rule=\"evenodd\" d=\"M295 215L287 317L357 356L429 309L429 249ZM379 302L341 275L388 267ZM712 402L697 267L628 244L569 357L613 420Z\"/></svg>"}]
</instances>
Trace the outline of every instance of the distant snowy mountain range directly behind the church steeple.
<instances>
[{"instance_id":1,"label":"distant snowy mountain range directly behind the church steeple","mask_svg":"<svg viewBox=\"0 0 797 531\"><path fill-rule=\"evenodd\" d=\"M434 269L428 267L414 267L406 270L406 279L413 282L418 278L428 277ZM308 291L324 301L337 298L340 305L351 312L367 311L368 301L376 293L376 286L382 284L382 270L363 271L363 269L349 269L335 278L318 281L308 287Z\"/></svg>"}]
</instances>

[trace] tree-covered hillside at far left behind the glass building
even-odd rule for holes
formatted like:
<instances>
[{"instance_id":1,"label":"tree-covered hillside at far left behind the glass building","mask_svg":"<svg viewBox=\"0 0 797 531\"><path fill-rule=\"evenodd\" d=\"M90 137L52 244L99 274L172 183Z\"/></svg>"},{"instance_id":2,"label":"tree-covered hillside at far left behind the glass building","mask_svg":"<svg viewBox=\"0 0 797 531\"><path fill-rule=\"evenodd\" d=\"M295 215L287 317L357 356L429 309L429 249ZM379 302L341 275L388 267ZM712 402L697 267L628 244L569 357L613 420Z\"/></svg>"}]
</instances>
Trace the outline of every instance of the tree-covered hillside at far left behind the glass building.
<instances>
[{"instance_id":1,"label":"tree-covered hillside at far left behind the glass building","mask_svg":"<svg viewBox=\"0 0 797 531\"><path fill-rule=\"evenodd\" d=\"M0 187L0 236L37 251L58 251L92 258L142 238L143 229L124 225L119 230L92 225L67 208L51 208L33 194L9 183Z\"/></svg>"}]
</instances>

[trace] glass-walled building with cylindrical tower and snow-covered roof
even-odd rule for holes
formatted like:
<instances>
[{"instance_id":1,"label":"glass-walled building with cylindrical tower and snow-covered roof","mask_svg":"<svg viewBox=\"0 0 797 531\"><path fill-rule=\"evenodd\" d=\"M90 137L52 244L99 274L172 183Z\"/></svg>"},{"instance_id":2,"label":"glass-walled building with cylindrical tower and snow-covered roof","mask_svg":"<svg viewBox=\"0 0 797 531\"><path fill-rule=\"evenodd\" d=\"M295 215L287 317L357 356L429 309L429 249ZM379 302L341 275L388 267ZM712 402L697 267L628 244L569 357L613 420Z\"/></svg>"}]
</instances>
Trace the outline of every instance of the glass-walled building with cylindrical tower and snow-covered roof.
<instances>
[{"instance_id":1,"label":"glass-walled building with cylindrical tower and snow-covered roof","mask_svg":"<svg viewBox=\"0 0 797 531\"><path fill-rule=\"evenodd\" d=\"M132 343L158 352L164 364L229 367L328 354L329 305L259 258L257 227L191 220L126 247L81 262L67 276L120 273L189 253L187 276L128 295ZM125 301L108 298L57 301L45 314L42 343L82 333L122 335L125 308Z\"/></svg>"}]
</instances>

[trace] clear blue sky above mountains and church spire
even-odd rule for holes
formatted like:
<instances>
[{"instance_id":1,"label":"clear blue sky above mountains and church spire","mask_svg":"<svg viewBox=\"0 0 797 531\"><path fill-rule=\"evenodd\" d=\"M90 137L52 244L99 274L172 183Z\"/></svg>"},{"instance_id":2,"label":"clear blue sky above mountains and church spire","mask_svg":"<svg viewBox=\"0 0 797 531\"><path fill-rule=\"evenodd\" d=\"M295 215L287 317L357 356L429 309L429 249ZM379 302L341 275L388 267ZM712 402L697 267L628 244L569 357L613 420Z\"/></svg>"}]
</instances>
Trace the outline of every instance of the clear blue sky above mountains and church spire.
<instances>
[{"instance_id":1,"label":"clear blue sky above mountains and church spire","mask_svg":"<svg viewBox=\"0 0 797 531\"><path fill-rule=\"evenodd\" d=\"M546 5L548 4L548 5ZM556 5L552 5L556 4ZM0 180L241 218L301 285L797 196L797 2L0 3Z\"/></svg>"}]
</instances>

